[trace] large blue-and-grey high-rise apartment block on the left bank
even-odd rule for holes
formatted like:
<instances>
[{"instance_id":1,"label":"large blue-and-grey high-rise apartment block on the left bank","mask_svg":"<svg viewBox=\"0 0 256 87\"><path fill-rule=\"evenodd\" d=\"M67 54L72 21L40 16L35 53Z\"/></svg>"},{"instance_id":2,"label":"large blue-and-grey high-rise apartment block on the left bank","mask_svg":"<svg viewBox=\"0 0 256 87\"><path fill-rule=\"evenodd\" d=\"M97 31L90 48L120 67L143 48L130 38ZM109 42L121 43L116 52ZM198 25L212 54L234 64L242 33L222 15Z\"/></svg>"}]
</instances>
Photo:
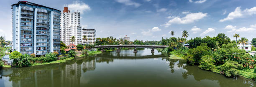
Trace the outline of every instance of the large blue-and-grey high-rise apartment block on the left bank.
<instances>
[{"instance_id":1,"label":"large blue-and-grey high-rise apartment block on the left bank","mask_svg":"<svg viewBox=\"0 0 256 87\"><path fill-rule=\"evenodd\" d=\"M44 55L60 52L60 10L19 1L13 9L13 50Z\"/></svg>"}]
</instances>

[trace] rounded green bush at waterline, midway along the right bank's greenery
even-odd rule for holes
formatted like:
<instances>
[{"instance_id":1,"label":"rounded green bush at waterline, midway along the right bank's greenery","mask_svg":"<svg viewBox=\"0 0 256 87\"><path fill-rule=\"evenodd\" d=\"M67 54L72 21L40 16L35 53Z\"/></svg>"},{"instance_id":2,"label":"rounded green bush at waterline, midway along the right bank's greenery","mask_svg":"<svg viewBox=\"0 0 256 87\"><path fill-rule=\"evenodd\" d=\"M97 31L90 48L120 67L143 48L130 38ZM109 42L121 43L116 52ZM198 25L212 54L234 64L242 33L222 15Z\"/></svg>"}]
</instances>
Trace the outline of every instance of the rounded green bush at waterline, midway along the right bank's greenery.
<instances>
[{"instance_id":1,"label":"rounded green bush at waterline, midway along the right bank's greenery","mask_svg":"<svg viewBox=\"0 0 256 87\"><path fill-rule=\"evenodd\" d=\"M205 55L201 57L199 66L201 69L213 71L215 69L215 60L212 59L212 56Z\"/></svg>"}]
</instances>

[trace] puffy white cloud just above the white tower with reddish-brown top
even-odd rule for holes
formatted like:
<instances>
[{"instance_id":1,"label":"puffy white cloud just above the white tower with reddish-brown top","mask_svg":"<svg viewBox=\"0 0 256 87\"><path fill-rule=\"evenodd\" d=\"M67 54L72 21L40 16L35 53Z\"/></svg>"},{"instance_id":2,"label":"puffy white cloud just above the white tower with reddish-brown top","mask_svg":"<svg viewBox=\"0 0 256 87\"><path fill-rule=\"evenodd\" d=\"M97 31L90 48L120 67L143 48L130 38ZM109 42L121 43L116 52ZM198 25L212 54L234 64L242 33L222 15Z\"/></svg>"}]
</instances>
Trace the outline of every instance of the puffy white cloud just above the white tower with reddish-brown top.
<instances>
[{"instance_id":1,"label":"puffy white cloud just above the white tower with reddish-brown top","mask_svg":"<svg viewBox=\"0 0 256 87\"><path fill-rule=\"evenodd\" d=\"M71 12L80 12L81 14L84 13L84 11L91 10L90 6L83 3L82 1L74 1L72 4L65 5L69 8Z\"/></svg>"}]
</instances>

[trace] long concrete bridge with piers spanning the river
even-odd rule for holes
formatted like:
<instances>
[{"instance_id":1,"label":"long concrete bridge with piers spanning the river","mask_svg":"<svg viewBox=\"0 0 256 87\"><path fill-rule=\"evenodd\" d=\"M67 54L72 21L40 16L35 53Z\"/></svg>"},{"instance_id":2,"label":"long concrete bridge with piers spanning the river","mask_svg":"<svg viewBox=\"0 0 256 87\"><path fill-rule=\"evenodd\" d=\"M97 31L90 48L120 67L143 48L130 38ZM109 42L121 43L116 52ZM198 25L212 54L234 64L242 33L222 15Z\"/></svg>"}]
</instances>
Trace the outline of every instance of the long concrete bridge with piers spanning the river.
<instances>
[{"instance_id":1,"label":"long concrete bridge with piers spanning the river","mask_svg":"<svg viewBox=\"0 0 256 87\"><path fill-rule=\"evenodd\" d=\"M154 53L155 48L161 48L164 49L169 46L161 46L161 45L102 45L102 46L95 46L96 49L103 49L105 48L117 48L118 50L116 52L120 52L120 48L134 48L133 53L137 53L138 51L136 48L151 48L151 53Z\"/></svg>"}]
</instances>

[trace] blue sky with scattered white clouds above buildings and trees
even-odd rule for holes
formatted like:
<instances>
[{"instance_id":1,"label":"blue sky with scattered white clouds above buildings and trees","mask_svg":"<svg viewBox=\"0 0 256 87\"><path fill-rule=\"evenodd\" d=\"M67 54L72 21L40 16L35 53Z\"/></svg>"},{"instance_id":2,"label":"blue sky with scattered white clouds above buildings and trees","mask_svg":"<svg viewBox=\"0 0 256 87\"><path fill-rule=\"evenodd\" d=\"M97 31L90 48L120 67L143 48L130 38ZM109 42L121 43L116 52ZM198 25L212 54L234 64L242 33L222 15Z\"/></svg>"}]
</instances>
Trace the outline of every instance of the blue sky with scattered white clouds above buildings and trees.
<instances>
[{"instance_id":1,"label":"blue sky with scattered white clouds above buildings and trees","mask_svg":"<svg viewBox=\"0 0 256 87\"><path fill-rule=\"evenodd\" d=\"M0 36L12 41L11 5L19 0L0 3ZM235 33L249 41L256 38L256 0L27 0L31 3L71 12L81 12L83 28L94 28L96 37L160 41L161 37L188 38Z\"/></svg>"}]
</instances>

